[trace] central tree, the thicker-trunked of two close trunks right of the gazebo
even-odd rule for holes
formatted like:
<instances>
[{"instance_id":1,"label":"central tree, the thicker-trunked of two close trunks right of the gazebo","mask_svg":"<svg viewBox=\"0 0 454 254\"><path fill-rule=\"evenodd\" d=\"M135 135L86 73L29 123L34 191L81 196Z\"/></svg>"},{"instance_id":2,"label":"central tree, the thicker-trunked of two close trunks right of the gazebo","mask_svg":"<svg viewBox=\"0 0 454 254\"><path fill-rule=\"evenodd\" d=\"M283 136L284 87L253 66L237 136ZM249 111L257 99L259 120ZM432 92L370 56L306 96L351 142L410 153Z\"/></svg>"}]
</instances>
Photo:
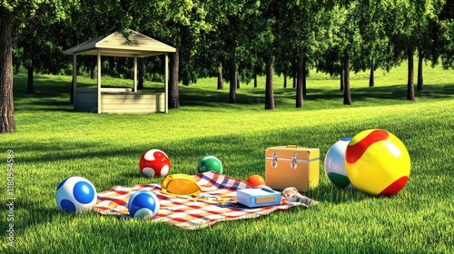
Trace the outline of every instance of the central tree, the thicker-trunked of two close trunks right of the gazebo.
<instances>
[{"instance_id":1,"label":"central tree, the thicker-trunked of two close trunks right of the gazebo","mask_svg":"<svg viewBox=\"0 0 454 254\"><path fill-rule=\"evenodd\" d=\"M207 20L212 24L212 30L206 35L205 51L211 59L203 61L210 64L218 75L217 68L222 64L222 77L230 83L229 103L236 103L238 77L249 82L256 74L257 59L261 59L254 47L254 35L257 30L254 22L257 21L260 1L246 0L217 0L208 9ZM258 26L257 26L258 27ZM263 61L262 61L263 63ZM207 64L205 64L206 66ZM212 67L208 67L209 69ZM210 70L207 73L212 73ZM248 74L249 73L249 74Z\"/></svg>"}]
</instances>

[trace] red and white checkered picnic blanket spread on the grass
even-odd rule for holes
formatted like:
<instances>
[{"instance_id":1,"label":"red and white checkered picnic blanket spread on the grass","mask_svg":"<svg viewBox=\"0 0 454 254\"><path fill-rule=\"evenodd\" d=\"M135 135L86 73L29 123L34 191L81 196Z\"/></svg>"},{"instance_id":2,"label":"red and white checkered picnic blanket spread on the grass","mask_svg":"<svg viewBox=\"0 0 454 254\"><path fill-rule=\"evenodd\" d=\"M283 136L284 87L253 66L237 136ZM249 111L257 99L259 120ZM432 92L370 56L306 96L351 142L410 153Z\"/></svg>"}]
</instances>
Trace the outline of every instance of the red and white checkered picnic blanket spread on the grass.
<instances>
[{"instance_id":1,"label":"red and white checkered picnic blanket spread on the grass","mask_svg":"<svg viewBox=\"0 0 454 254\"><path fill-rule=\"evenodd\" d=\"M153 220L166 221L185 230L199 230L219 221L257 218L274 210L289 210L295 206L311 207L318 203L289 202L281 197L280 205L248 208L236 203L236 190L253 188L249 183L214 171L193 175L192 178L202 190L197 196L163 194L160 191L161 184L156 183L133 187L115 186L98 193L94 210L104 215L128 218L129 198L136 191L150 190L161 205Z\"/></svg>"}]
</instances>

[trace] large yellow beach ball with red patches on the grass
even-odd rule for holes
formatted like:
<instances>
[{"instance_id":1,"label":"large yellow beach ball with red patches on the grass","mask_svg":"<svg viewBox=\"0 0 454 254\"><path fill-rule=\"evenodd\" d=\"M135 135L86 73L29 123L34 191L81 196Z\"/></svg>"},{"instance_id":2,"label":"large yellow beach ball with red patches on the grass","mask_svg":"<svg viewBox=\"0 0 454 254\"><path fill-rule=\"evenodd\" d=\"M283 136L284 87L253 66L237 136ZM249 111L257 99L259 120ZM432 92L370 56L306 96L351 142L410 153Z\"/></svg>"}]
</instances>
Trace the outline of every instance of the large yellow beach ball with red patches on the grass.
<instances>
[{"instance_id":1,"label":"large yellow beach ball with red patches on the grass","mask_svg":"<svg viewBox=\"0 0 454 254\"><path fill-rule=\"evenodd\" d=\"M397 194L410 176L410 155L394 134L373 129L355 135L345 151L351 183L372 195Z\"/></svg>"}]
</instances>

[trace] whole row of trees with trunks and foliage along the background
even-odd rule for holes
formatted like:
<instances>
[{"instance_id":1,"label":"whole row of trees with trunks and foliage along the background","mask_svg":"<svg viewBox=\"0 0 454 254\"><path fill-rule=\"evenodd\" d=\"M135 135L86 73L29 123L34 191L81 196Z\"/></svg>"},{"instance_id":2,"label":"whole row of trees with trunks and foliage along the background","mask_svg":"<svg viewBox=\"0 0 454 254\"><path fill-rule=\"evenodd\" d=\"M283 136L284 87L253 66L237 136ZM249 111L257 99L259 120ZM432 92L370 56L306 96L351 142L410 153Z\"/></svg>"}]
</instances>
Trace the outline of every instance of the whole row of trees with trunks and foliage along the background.
<instances>
[{"instance_id":1,"label":"whole row of trees with trunks and foliage along the background","mask_svg":"<svg viewBox=\"0 0 454 254\"><path fill-rule=\"evenodd\" d=\"M13 72L61 73L71 67L63 51L89 38L131 28L171 44L169 107L178 108L178 83L218 77L236 103L239 79L266 75L265 109L274 108L272 75L293 78L295 106L303 107L311 69L340 76L351 103L350 72L390 70L407 61L407 99L423 89L424 61L454 68L454 1L448 0L12 0L0 3L0 132L14 132ZM124 74L128 60L105 59L107 73ZM84 57L79 68L94 70ZM139 63L139 86L147 66Z\"/></svg>"}]
</instances>

